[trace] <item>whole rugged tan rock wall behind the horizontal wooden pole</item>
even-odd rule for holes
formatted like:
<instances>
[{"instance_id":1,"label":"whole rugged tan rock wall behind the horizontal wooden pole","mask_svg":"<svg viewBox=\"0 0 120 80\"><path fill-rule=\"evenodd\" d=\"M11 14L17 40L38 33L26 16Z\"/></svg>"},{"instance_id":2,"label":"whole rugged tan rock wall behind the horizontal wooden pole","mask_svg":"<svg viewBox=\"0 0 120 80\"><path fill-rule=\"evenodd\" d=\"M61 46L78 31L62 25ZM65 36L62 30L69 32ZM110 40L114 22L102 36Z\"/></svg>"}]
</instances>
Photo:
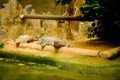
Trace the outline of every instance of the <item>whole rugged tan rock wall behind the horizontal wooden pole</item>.
<instances>
[{"instance_id":1,"label":"whole rugged tan rock wall behind the horizontal wooden pole","mask_svg":"<svg viewBox=\"0 0 120 80\"><path fill-rule=\"evenodd\" d=\"M9 2L8 2L9 1ZM68 23L58 23L55 20L25 20L24 24L21 25L21 21L19 20L19 15L24 13L26 14L26 6L32 5L32 11L30 14L43 14L47 15L48 12L51 15L62 15L61 9L64 13L64 6L58 5L55 7L54 0L17 0L20 5L16 4L16 0L1 0L0 1L0 26L4 27L11 36L19 36L20 34L31 34L31 35L49 35L56 36L60 38L66 38L68 34ZM75 14L74 16L78 16L80 14L79 7L80 4L84 3L84 0L76 0L75 3ZM3 7L4 5L4 7ZM21 10L21 11L20 11ZM22 11L23 10L23 11ZM5 14L2 14L2 13ZM15 13L15 14L14 14ZM2 15L2 16L1 16ZM3 20L4 19L4 20ZM13 24L15 23L15 24ZM17 23L17 24L16 24ZM59 26L60 25L60 26ZM71 34L73 34L74 40L79 40L81 37L87 36L86 31L88 26L85 24L80 24L79 21L72 21L71 24ZM35 31L34 31L35 29ZM63 33L63 34L59 34ZM17 34L17 35L16 35ZM77 37L76 37L77 36Z\"/></svg>"}]
</instances>

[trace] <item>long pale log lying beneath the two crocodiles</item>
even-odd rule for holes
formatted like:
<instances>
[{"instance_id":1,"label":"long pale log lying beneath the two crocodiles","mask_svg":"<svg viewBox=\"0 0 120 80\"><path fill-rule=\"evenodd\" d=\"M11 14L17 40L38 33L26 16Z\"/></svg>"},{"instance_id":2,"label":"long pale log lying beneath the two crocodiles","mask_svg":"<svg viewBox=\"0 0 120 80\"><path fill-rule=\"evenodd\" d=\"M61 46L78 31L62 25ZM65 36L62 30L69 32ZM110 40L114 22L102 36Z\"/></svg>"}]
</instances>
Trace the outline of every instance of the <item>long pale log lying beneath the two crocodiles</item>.
<instances>
[{"instance_id":1,"label":"long pale log lying beneath the two crocodiles","mask_svg":"<svg viewBox=\"0 0 120 80\"><path fill-rule=\"evenodd\" d=\"M41 45L38 45L35 43L29 43L29 44L28 43L21 43L19 47L41 50ZM68 48L68 47L62 47L62 48L56 50L53 46L46 46L43 50L57 52L57 53L80 54L83 56L92 56L92 57L97 57L98 54L100 53L100 51L98 51L98 50Z\"/></svg>"}]
</instances>

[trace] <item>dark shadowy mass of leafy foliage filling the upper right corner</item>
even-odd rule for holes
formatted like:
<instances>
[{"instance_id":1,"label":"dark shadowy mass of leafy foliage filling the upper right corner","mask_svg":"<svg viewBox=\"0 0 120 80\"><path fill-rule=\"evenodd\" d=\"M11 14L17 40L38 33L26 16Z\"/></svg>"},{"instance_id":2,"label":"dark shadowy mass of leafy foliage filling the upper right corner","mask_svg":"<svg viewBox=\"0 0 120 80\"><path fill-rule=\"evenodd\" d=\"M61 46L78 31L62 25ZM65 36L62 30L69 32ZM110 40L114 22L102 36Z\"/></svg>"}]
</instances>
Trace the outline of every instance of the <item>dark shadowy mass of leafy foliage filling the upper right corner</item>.
<instances>
[{"instance_id":1,"label":"dark shadowy mass of leafy foliage filling the upper right corner","mask_svg":"<svg viewBox=\"0 0 120 80\"><path fill-rule=\"evenodd\" d=\"M82 4L80 7L80 11L84 15L84 20L99 20L102 23L99 27L102 27L103 30L100 31L98 28L101 38L120 40L120 9L118 8L119 0L85 1L85 4ZM89 31L91 31L91 29L89 29ZM96 34L96 30L98 29L92 29L91 32L94 31Z\"/></svg>"}]
</instances>

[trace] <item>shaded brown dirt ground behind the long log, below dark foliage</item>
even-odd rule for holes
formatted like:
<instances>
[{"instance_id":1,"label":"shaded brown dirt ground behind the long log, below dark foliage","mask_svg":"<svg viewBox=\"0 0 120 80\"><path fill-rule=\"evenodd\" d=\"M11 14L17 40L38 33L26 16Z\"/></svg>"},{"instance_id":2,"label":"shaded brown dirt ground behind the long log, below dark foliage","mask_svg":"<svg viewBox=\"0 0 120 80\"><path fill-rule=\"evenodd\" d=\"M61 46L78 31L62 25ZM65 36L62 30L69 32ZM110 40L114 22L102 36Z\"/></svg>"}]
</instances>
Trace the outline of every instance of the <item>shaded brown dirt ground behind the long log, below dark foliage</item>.
<instances>
[{"instance_id":1,"label":"shaded brown dirt ground behind the long log, below dark foliage","mask_svg":"<svg viewBox=\"0 0 120 80\"><path fill-rule=\"evenodd\" d=\"M87 39L72 42L74 47L105 51L120 46L118 42L104 41L100 39Z\"/></svg>"}]
</instances>

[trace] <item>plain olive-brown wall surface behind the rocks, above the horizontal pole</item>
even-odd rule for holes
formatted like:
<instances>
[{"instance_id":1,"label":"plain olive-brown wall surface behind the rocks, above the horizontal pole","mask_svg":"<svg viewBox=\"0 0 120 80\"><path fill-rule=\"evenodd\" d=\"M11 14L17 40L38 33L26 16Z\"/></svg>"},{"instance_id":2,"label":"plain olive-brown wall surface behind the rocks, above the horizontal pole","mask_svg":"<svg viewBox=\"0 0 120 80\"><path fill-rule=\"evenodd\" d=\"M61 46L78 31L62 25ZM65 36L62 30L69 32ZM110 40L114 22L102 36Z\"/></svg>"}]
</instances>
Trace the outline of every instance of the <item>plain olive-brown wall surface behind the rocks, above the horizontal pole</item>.
<instances>
[{"instance_id":1,"label":"plain olive-brown wall surface behind the rocks, above the horizontal pole","mask_svg":"<svg viewBox=\"0 0 120 80\"><path fill-rule=\"evenodd\" d=\"M4 3L7 3L9 0L0 0L0 8ZM43 12L52 12L53 14L60 14L60 5L55 7L54 0L17 0L23 7L26 5L33 5L36 13L42 14Z\"/></svg>"}]
</instances>

